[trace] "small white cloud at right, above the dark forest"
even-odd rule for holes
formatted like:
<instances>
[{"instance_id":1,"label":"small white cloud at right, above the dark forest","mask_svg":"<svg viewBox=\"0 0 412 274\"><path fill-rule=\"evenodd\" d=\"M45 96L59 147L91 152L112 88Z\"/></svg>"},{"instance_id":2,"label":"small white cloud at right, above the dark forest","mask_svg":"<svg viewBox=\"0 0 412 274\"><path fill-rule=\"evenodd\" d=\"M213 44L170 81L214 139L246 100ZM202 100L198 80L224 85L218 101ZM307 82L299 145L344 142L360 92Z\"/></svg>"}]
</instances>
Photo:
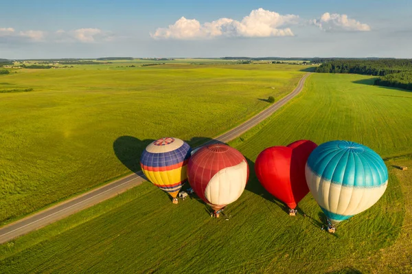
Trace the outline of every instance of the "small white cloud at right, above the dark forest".
<instances>
[{"instance_id":1,"label":"small white cloud at right, above the dark forest","mask_svg":"<svg viewBox=\"0 0 412 274\"><path fill-rule=\"evenodd\" d=\"M365 23L349 19L346 14L330 14L325 12L320 19L313 19L310 23L317 25L321 30L327 32L333 31L352 31L352 32L369 32L371 27Z\"/></svg>"}]
</instances>

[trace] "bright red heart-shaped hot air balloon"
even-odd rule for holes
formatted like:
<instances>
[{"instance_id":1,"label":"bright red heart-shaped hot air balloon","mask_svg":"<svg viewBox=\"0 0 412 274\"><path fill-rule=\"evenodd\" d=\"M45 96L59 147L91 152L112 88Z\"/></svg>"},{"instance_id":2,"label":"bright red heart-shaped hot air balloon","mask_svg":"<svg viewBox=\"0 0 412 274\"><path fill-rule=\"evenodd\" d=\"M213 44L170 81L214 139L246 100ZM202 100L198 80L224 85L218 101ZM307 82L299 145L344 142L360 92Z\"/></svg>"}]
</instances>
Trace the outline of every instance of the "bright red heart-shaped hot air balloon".
<instances>
[{"instance_id":1,"label":"bright red heart-shaped hot air balloon","mask_svg":"<svg viewBox=\"0 0 412 274\"><path fill-rule=\"evenodd\" d=\"M255 173L263 187L286 203L290 215L309 189L305 178L305 165L310 152L317 147L312 141L299 140L288 146L266 148L255 161Z\"/></svg>"}]
</instances>

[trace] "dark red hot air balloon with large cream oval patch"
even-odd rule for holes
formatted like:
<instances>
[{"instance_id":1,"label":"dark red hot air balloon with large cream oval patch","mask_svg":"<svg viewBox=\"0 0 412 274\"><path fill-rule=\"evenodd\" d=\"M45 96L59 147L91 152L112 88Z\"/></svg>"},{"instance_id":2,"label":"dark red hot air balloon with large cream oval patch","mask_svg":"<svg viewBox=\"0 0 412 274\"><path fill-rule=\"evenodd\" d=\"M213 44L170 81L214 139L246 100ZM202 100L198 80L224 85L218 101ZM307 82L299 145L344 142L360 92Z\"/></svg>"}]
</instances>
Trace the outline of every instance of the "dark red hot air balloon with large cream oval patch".
<instances>
[{"instance_id":1,"label":"dark red hot air balloon with large cream oval patch","mask_svg":"<svg viewBox=\"0 0 412 274\"><path fill-rule=\"evenodd\" d=\"M236 149L224 144L203 146L187 163L187 177L194 192L214 209L238 200L246 187L249 167Z\"/></svg>"}]
</instances>

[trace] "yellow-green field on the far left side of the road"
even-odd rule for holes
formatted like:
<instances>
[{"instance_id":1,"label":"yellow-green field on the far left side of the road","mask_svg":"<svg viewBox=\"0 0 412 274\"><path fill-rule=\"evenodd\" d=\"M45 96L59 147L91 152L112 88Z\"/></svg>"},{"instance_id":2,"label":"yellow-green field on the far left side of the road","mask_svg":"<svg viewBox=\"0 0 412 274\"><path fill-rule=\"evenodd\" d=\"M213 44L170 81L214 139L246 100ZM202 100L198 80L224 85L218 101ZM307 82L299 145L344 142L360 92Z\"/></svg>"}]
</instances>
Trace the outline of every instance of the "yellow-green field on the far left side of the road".
<instances>
[{"instance_id":1,"label":"yellow-green field on the far left side of the road","mask_svg":"<svg viewBox=\"0 0 412 274\"><path fill-rule=\"evenodd\" d=\"M0 224L127 174L122 161L138 170L127 136L139 139L139 153L163 136L201 144L266 108L260 99L290 93L305 73L293 65L116 66L0 76L0 91L30 90L0 93Z\"/></svg>"}]
</instances>

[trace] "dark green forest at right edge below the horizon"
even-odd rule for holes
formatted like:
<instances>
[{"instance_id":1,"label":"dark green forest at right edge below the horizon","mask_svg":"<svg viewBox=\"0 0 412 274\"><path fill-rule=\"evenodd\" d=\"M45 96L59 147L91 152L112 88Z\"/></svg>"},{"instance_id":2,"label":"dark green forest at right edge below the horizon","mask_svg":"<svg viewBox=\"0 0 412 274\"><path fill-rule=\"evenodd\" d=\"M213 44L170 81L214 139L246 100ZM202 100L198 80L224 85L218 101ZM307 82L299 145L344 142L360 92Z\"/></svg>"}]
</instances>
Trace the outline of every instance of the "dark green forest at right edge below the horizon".
<instances>
[{"instance_id":1,"label":"dark green forest at right edge below the horizon","mask_svg":"<svg viewBox=\"0 0 412 274\"><path fill-rule=\"evenodd\" d=\"M412 59L326 60L315 71L380 76L376 85L412 90Z\"/></svg>"}]
</instances>

